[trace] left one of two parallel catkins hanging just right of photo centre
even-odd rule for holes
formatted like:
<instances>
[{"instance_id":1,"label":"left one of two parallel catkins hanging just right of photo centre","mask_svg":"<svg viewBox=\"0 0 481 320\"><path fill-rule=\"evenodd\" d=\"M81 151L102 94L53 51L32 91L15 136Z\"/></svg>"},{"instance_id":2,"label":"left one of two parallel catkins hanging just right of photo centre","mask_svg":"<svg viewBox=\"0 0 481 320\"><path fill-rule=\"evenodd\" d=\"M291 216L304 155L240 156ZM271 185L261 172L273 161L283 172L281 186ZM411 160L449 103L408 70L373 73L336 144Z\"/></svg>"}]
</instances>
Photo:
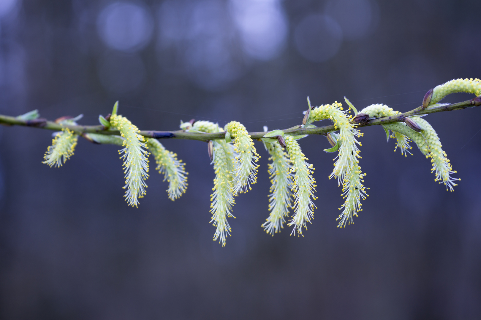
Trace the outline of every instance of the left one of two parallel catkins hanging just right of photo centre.
<instances>
[{"instance_id":1,"label":"left one of two parallel catkins hanging just right of photo centre","mask_svg":"<svg viewBox=\"0 0 481 320\"><path fill-rule=\"evenodd\" d=\"M292 178L291 172L292 164L288 154L278 142L264 142L266 149L270 154L269 160L272 163L268 164L269 178L271 187L269 191L269 217L262 225L267 234L274 236L274 233L280 232L283 228L289 214L289 207L291 207L292 197Z\"/></svg>"}]
</instances>

